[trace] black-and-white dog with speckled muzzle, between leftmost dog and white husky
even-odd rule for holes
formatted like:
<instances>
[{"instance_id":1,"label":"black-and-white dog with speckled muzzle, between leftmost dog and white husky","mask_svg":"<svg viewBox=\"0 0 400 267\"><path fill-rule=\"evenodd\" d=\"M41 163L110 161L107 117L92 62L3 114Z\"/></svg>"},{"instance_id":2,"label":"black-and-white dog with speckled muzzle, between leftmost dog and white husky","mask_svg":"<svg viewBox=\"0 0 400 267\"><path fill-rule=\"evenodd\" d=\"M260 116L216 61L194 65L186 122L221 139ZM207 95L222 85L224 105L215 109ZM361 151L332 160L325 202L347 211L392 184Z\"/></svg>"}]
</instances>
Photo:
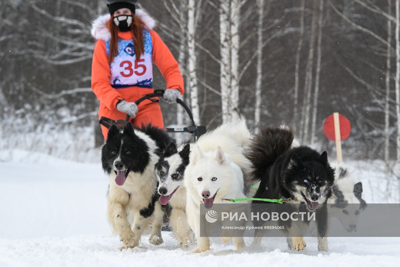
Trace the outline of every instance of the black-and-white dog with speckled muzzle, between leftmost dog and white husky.
<instances>
[{"instance_id":1,"label":"black-and-white dog with speckled muzzle, between leftmost dog and white husky","mask_svg":"<svg viewBox=\"0 0 400 267\"><path fill-rule=\"evenodd\" d=\"M189 154L190 144L180 147L178 152L176 144L170 143L154 168L158 178L159 201L162 205L170 205L172 230L179 245L185 249L194 243L186 217L186 188L183 183Z\"/></svg>"}]
</instances>

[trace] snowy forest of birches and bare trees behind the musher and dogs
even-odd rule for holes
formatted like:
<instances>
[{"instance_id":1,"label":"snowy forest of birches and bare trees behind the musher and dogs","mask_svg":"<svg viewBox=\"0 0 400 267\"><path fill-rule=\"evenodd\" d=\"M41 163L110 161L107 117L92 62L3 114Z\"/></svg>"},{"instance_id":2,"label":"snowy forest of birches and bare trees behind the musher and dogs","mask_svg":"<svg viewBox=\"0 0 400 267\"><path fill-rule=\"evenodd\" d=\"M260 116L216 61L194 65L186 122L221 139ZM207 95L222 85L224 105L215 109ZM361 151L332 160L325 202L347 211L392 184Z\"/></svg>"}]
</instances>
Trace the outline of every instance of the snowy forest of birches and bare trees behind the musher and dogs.
<instances>
[{"instance_id":1,"label":"snowy forest of birches and bare trees behind the musher and dogs","mask_svg":"<svg viewBox=\"0 0 400 267\"><path fill-rule=\"evenodd\" d=\"M352 123L344 158L400 159L399 0L141 0L185 79L184 101L212 129L240 114L290 125L328 150L324 119ZM92 21L104 0L0 1L0 149L98 161L90 88ZM154 89L165 89L155 70ZM188 124L162 103L166 125ZM101 135L101 133L100 133Z\"/></svg>"}]
</instances>

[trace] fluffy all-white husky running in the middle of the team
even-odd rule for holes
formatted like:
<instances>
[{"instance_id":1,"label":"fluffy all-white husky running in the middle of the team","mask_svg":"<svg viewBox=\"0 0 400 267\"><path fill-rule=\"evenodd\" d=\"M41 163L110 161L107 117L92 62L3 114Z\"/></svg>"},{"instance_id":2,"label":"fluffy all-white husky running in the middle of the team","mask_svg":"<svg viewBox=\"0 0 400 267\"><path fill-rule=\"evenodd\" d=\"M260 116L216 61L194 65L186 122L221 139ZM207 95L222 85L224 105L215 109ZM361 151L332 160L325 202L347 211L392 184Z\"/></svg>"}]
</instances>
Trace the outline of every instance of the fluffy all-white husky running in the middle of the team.
<instances>
[{"instance_id":1,"label":"fluffy all-white husky running in the middle of the team","mask_svg":"<svg viewBox=\"0 0 400 267\"><path fill-rule=\"evenodd\" d=\"M249 138L246 120L242 118L206 133L193 146L184 175L188 223L198 243L193 253L210 249L208 237L200 237L200 219L204 221L200 218L200 203L211 208L214 203L222 203L222 198L246 197L243 172L248 173L252 165L242 150ZM244 247L243 237L232 239L237 249ZM222 238L224 242L229 240Z\"/></svg>"}]
</instances>

